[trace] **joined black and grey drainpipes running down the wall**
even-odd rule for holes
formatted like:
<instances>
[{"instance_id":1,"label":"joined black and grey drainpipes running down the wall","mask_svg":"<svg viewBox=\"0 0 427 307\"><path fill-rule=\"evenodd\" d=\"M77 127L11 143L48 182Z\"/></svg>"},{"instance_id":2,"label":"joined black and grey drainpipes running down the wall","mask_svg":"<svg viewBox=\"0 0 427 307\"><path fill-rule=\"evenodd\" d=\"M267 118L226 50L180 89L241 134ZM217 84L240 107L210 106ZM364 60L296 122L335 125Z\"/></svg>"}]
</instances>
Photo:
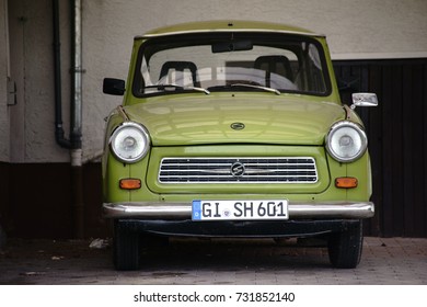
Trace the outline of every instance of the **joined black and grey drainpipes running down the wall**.
<instances>
[{"instance_id":1,"label":"joined black and grey drainpipes running down the wall","mask_svg":"<svg viewBox=\"0 0 427 307\"><path fill-rule=\"evenodd\" d=\"M84 237L83 171L82 171L82 34L81 0L70 0L71 8L71 123L70 139L66 139L62 127L59 4L53 0L54 12L54 54L55 54L55 139L62 148L70 149L71 193L73 213L73 236Z\"/></svg>"}]
</instances>

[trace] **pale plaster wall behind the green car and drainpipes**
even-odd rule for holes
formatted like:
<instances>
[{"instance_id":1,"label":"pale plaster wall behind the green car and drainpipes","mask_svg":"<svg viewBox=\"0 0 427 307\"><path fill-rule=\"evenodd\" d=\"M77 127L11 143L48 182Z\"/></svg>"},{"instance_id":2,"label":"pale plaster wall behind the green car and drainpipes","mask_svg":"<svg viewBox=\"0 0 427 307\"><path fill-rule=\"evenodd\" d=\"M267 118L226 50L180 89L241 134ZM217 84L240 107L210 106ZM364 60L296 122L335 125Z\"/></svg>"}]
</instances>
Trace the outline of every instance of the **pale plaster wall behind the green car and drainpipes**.
<instances>
[{"instance_id":1,"label":"pale plaster wall behind the green car and drainpipes","mask_svg":"<svg viewBox=\"0 0 427 307\"><path fill-rule=\"evenodd\" d=\"M2 4L5 0L0 0ZM8 157L8 140L0 160L64 162L67 150L54 139L51 1L9 0L21 3L26 18L24 55L24 116L22 145ZM104 77L126 78L132 38L150 29L178 22L212 19L262 20L289 23L327 35L332 55L342 58L427 57L426 0L82 0L83 2L83 157L103 146L104 117L120 98L102 94ZM61 0L62 109L69 133L69 15ZM3 5L0 7L2 10ZM18 15L10 18L16 19ZM0 133L8 135L4 114L4 38L0 14ZM12 118L12 117L11 117ZM22 123L15 123L22 121ZM12 132L11 132L12 133ZM22 148L21 148L22 147ZM23 150L22 157L16 158Z\"/></svg>"}]
</instances>

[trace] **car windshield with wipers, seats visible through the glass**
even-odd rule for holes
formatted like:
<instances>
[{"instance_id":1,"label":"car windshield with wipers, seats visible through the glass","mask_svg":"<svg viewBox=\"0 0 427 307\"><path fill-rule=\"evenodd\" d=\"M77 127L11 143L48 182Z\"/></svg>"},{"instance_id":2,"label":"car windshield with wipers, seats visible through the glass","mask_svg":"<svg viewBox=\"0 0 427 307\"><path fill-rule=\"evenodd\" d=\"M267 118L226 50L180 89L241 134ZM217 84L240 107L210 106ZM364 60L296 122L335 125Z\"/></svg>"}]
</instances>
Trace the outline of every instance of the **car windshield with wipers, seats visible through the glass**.
<instances>
[{"instance_id":1,"label":"car windshield with wipers, seats visible through the glass","mask_svg":"<svg viewBox=\"0 0 427 307\"><path fill-rule=\"evenodd\" d=\"M318 41L285 34L211 33L148 39L139 50L134 94L176 91L330 91Z\"/></svg>"}]
</instances>

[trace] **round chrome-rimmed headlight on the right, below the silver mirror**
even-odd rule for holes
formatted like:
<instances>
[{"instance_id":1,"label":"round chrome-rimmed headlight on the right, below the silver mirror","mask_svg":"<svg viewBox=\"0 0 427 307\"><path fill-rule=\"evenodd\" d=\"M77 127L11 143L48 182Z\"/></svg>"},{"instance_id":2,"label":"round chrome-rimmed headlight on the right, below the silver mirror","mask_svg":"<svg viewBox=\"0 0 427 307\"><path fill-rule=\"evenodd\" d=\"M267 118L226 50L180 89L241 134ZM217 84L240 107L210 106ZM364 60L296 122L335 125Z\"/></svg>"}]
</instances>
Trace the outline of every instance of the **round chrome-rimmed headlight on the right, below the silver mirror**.
<instances>
[{"instance_id":1,"label":"round chrome-rimmed headlight on the right, below the silver mirror","mask_svg":"<svg viewBox=\"0 0 427 307\"><path fill-rule=\"evenodd\" d=\"M359 125L343 121L331 127L326 136L327 152L339 162L359 159L368 147L368 138Z\"/></svg>"}]
</instances>

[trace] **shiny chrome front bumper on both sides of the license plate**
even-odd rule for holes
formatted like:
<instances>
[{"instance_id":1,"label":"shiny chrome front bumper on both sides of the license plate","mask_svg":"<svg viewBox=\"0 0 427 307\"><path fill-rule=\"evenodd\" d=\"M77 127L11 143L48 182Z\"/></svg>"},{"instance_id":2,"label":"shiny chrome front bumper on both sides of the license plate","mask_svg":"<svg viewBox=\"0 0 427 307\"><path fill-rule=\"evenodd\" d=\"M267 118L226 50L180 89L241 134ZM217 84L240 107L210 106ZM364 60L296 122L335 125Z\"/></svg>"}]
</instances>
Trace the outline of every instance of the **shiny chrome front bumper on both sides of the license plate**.
<instances>
[{"instance_id":1,"label":"shiny chrome front bumper on both sides of the license plate","mask_svg":"<svg viewBox=\"0 0 427 307\"><path fill-rule=\"evenodd\" d=\"M188 203L104 203L104 217L142 219L191 219ZM374 214L371 202L302 203L289 202L289 219L303 218L369 218Z\"/></svg>"}]
</instances>

